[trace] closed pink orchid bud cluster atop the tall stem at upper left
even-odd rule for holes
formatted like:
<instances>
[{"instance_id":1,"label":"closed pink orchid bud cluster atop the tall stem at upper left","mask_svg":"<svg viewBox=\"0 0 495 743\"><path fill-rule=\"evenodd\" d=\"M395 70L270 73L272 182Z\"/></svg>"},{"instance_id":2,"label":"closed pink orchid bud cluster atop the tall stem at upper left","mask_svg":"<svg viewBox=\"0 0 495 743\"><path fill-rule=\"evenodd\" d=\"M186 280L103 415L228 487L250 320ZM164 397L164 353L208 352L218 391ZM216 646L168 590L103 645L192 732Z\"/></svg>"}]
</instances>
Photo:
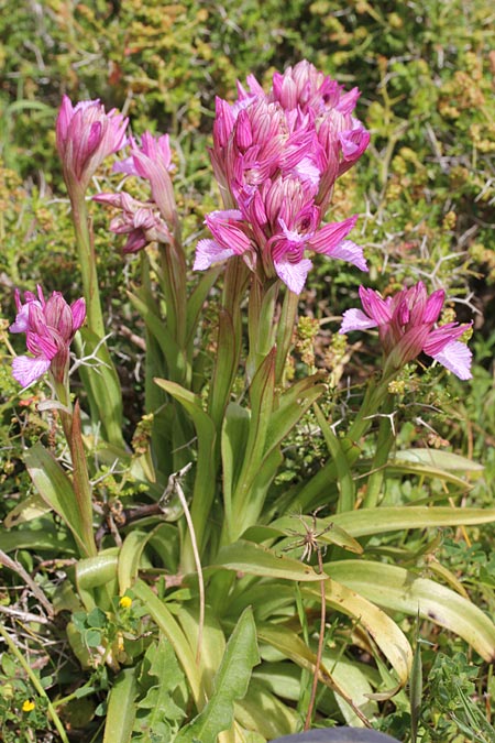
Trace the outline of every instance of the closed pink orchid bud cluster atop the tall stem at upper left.
<instances>
[{"instance_id":1,"label":"closed pink orchid bud cluster atop the tall stem at upper left","mask_svg":"<svg viewBox=\"0 0 495 743\"><path fill-rule=\"evenodd\" d=\"M108 113L99 100L73 106L64 96L56 123L56 143L69 195L82 189L103 160L127 143L128 119L116 109Z\"/></svg>"}]
</instances>

